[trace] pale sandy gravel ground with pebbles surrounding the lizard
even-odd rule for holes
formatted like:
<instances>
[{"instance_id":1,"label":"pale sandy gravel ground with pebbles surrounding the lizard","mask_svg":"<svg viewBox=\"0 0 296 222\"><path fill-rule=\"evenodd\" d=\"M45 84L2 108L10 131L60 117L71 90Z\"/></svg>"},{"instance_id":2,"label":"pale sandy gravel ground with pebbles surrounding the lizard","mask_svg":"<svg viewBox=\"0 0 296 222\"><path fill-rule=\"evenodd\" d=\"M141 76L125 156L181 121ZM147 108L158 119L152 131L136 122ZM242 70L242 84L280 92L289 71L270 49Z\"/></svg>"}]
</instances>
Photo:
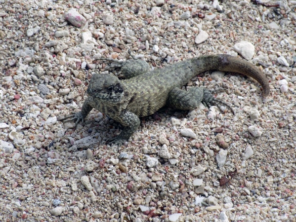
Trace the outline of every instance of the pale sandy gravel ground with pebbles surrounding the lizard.
<instances>
[{"instance_id":1,"label":"pale sandy gravel ground with pebbles surrounding the lizard","mask_svg":"<svg viewBox=\"0 0 296 222\"><path fill-rule=\"evenodd\" d=\"M0 221L295 222L295 0L0 0ZM233 104L160 111L125 147L99 111L71 129L96 58L162 68L227 53L269 79L200 74Z\"/></svg>"}]
</instances>

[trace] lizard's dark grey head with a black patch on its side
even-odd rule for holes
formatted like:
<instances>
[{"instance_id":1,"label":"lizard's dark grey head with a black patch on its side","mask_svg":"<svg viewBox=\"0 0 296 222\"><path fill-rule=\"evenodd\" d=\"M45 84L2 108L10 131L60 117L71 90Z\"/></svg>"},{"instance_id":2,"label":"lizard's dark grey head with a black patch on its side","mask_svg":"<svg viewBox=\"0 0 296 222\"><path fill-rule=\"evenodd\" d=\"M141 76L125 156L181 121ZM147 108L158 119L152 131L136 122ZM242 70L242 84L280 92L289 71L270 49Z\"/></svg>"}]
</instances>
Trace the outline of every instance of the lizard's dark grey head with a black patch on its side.
<instances>
[{"instance_id":1,"label":"lizard's dark grey head with a black patch on its side","mask_svg":"<svg viewBox=\"0 0 296 222\"><path fill-rule=\"evenodd\" d=\"M114 75L93 74L86 93L99 100L117 103L120 102L124 89L120 80Z\"/></svg>"}]
</instances>

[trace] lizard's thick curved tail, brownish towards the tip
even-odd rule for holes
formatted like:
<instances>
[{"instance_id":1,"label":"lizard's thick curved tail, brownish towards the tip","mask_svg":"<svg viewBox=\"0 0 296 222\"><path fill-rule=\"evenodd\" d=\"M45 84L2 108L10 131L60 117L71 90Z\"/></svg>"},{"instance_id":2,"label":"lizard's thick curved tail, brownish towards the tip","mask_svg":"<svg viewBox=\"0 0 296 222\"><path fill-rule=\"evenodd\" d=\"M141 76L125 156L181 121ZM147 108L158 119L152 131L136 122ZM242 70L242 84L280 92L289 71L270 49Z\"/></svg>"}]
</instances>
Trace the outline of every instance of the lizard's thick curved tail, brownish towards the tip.
<instances>
[{"instance_id":1,"label":"lizard's thick curved tail, brownish towards the tip","mask_svg":"<svg viewBox=\"0 0 296 222\"><path fill-rule=\"evenodd\" d=\"M231 55L219 54L211 56L201 56L199 58L194 58L193 60L195 61L192 62L198 66L199 73L201 73L201 70L203 70L202 72L207 70L219 70L250 76L256 79L261 84L263 88L263 97L269 95L270 88L268 79L257 67L243 59L239 59Z\"/></svg>"}]
</instances>

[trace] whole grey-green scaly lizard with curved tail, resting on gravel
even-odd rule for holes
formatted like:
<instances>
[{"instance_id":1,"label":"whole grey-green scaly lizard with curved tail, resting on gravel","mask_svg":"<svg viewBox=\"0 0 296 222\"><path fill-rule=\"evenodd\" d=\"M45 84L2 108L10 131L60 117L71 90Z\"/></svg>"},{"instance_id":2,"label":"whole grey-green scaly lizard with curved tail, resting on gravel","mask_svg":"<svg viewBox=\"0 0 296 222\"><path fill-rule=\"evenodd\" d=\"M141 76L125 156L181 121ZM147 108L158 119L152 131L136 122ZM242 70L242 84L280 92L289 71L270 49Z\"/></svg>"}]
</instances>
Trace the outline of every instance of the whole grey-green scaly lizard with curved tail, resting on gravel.
<instances>
[{"instance_id":1,"label":"whole grey-green scaly lizard with curved tail, resting on gravel","mask_svg":"<svg viewBox=\"0 0 296 222\"><path fill-rule=\"evenodd\" d=\"M132 59L127 61L98 58L116 63L114 67L121 68L125 79L120 80L113 74L93 74L82 110L60 120L76 120L76 128L80 121L84 123L85 117L94 108L123 125L122 132L108 141L109 145L121 146L137 130L139 117L151 115L164 106L193 110L202 102L209 107L215 105L221 109L220 105L224 105L231 109L226 102L216 99L204 87L191 87L187 91L181 89L191 78L202 72L218 70L244 74L260 83L263 97L270 92L265 75L256 66L238 57L227 54L205 55L151 71L147 62L136 59L130 50L128 53Z\"/></svg>"}]
</instances>

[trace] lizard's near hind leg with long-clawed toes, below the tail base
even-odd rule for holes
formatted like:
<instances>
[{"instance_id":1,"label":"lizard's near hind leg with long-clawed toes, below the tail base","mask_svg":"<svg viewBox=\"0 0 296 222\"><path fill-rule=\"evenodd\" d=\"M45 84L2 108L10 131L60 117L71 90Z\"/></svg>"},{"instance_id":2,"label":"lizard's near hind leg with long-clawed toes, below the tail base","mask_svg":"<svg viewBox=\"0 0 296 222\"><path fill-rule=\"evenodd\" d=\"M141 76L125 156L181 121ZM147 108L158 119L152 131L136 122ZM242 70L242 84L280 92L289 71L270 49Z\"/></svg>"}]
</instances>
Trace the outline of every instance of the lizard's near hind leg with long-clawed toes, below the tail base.
<instances>
[{"instance_id":1,"label":"lizard's near hind leg with long-clawed toes, below the tail base","mask_svg":"<svg viewBox=\"0 0 296 222\"><path fill-rule=\"evenodd\" d=\"M227 106L233 113L233 109L225 102L214 98L209 90L203 87L192 87L188 91L174 88L169 92L168 105L169 107L178 110L193 110L200 103L217 106L220 110L220 104Z\"/></svg>"}]
</instances>

